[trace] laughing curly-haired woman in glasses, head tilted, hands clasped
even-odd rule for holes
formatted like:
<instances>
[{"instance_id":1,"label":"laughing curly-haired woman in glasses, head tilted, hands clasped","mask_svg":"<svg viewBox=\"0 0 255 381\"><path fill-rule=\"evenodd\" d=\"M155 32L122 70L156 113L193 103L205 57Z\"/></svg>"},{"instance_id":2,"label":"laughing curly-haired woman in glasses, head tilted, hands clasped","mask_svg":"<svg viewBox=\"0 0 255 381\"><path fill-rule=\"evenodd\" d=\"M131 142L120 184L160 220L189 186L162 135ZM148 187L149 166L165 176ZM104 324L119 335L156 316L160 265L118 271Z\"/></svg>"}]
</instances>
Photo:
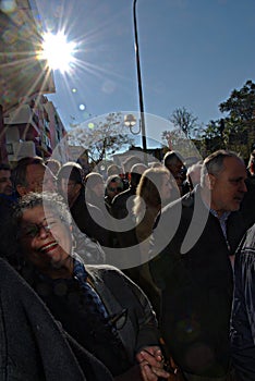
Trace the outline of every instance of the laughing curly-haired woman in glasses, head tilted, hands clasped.
<instances>
[{"instance_id":1,"label":"laughing curly-haired woman in glasses, head tilted, hands clasped","mask_svg":"<svg viewBox=\"0 0 255 381\"><path fill-rule=\"evenodd\" d=\"M21 274L116 381L167 379L147 297L117 268L85 265L73 251L70 221L68 206L57 194L31 193L20 200L14 228L21 233ZM148 377L142 378L145 373Z\"/></svg>"}]
</instances>

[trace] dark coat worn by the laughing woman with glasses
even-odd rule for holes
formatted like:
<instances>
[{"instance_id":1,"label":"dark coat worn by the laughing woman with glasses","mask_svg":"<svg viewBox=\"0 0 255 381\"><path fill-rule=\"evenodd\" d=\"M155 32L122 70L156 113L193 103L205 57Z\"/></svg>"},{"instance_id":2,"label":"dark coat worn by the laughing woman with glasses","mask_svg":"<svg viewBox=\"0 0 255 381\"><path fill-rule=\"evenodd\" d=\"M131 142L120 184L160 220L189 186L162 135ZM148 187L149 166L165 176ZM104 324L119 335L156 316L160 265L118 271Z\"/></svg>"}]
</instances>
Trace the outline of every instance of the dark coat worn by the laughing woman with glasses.
<instances>
[{"instance_id":1,"label":"dark coat worn by the laughing woman with glasses","mask_svg":"<svg viewBox=\"0 0 255 381\"><path fill-rule=\"evenodd\" d=\"M29 283L64 330L117 376L136 364L135 354L143 346L158 345L156 318L146 296L121 271L109 266L87 266L86 269L109 317L121 315L126 309L123 325L117 325L121 342L118 353L112 348L110 337L106 339L102 328L92 325L75 279L50 280L33 273Z\"/></svg>"}]
</instances>

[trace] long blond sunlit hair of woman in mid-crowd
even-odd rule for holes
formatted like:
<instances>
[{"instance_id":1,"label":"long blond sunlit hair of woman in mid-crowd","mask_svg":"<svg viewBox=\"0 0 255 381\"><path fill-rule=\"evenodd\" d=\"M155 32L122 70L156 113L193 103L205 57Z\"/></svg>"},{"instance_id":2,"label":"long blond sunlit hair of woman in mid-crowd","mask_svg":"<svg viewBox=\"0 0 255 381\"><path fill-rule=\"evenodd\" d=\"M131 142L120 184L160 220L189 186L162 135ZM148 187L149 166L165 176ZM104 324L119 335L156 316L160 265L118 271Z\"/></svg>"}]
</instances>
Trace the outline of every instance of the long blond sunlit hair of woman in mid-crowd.
<instances>
[{"instance_id":1,"label":"long blond sunlit hair of woman in mid-crowd","mask_svg":"<svg viewBox=\"0 0 255 381\"><path fill-rule=\"evenodd\" d=\"M169 176L169 171L163 167L150 168L142 174L133 207L133 212L136 217L143 213L144 205L160 209L160 189L165 175Z\"/></svg>"}]
</instances>

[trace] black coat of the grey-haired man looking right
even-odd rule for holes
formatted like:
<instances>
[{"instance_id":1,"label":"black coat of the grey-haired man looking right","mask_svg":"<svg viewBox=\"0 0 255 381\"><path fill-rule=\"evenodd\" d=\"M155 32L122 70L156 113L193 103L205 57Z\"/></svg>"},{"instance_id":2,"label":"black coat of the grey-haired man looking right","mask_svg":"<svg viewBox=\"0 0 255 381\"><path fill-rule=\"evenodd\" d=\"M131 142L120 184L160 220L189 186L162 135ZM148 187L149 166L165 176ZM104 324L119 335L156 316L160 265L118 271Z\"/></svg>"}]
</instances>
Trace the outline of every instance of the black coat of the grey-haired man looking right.
<instances>
[{"instance_id":1,"label":"black coat of the grey-haired man looking right","mask_svg":"<svg viewBox=\"0 0 255 381\"><path fill-rule=\"evenodd\" d=\"M167 206L154 231L150 272L161 290L160 327L169 351L186 371L221 377L229 367L233 255L245 231L240 212L219 220L199 188Z\"/></svg>"}]
</instances>

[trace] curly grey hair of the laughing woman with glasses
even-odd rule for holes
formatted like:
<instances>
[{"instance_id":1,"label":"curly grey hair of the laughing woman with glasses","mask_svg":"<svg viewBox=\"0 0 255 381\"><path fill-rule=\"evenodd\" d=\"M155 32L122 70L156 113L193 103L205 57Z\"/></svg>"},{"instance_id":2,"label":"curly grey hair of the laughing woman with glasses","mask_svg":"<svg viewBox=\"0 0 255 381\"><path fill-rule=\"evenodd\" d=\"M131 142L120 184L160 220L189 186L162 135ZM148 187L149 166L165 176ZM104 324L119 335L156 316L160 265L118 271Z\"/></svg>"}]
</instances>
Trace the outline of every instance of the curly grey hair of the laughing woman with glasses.
<instances>
[{"instance_id":1,"label":"curly grey hair of the laughing woman with glasses","mask_svg":"<svg viewBox=\"0 0 255 381\"><path fill-rule=\"evenodd\" d=\"M29 193L22 197L15 207L13 217L17 229L22 222L24 211L36 207L44 207L68 225L72 223L71 213L59 194L51 192Z\"/></svg>"}]
</instances>

